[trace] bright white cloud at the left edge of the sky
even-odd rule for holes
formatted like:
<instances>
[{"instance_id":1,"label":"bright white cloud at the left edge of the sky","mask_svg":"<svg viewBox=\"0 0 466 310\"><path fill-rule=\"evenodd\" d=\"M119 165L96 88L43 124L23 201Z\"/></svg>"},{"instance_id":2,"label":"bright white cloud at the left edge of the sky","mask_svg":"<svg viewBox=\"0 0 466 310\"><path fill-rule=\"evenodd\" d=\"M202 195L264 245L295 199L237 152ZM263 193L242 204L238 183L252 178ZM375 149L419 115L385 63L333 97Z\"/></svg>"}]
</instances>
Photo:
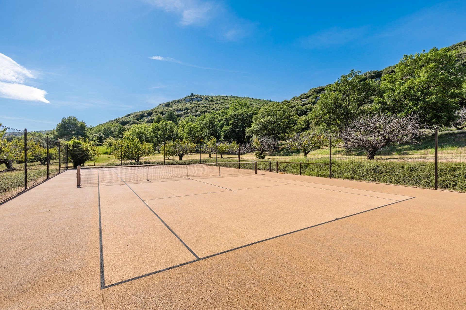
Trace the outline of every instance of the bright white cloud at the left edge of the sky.
<instances>
[{"instance_id":1,"label":"bright white cloud at the left edge of the sky","mask_svg":"<svg viewBox=\"0 0 466 310\"><path fill-rule=\"evenodd\" d=\"M0 97L50 103L46 91L24 85L27 78L35 79L31 71L0 53Z\"/></svg>"}]
</instances>

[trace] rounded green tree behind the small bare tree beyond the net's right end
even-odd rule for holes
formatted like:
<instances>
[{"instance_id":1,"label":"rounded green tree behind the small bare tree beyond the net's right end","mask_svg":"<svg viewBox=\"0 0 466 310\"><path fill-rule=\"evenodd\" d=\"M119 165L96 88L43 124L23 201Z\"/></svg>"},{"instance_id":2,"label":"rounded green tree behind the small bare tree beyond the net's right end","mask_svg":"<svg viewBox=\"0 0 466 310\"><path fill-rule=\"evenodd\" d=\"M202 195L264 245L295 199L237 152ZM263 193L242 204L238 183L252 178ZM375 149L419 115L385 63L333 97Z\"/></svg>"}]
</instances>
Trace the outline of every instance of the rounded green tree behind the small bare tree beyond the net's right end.
<instances>
[{"instance_id":1,"label":"rounded green tree behind the small bare tree beyond the net's right end","mask_svg":"<svg viewBox=\"0 0 466 310\"><path fill-rule=\"evenodd\" d=\"M291 133L296 123L296 114L289 104L270 103L260 108L254 115L251 127L247 128L248 136L270 136L274 139L284 139Z\"/></svg>"}]
</instances>

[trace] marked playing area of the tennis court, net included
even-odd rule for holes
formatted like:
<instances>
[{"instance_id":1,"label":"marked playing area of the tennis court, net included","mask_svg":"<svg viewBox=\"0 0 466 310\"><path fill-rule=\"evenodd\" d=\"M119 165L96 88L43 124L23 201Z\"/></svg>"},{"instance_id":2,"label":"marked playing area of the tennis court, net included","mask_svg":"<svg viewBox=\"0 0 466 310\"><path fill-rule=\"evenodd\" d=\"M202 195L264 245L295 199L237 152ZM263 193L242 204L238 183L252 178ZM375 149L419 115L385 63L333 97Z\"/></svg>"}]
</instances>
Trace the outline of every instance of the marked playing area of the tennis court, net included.
<instances>
[{"instance_id":1,"label":"marked playing area of the tennis court, net included","mask_svg":"<svg viewBox=\"0 0 466 310\"><path fill-rule=\"evenodd\" d=\"M412 198L277 180L253 162L83 167L78 177L98 187L102 288Z\"/></svg>"}]
</instances>

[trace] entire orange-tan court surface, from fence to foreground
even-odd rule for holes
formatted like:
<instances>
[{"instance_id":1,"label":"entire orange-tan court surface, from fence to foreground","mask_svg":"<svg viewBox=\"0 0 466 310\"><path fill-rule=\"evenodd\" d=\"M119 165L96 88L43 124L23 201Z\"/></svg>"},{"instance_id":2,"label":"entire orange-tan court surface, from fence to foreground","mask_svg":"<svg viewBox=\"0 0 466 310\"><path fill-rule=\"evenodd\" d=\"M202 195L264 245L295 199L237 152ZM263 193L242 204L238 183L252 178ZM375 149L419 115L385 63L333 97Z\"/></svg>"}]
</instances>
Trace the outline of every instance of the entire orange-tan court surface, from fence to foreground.
<instances>
[{"instance_id":1,"label":"entire orange-tan court surface, from fence to foreground","mask_svg":"<svg viewBox=\"0 0 466 310\"><path fill-rule=\"evenodd\" d=\"M464 309L465 198L254 163L68 170L0 205L0 308Z\"/></svg>"}]
</instances>

